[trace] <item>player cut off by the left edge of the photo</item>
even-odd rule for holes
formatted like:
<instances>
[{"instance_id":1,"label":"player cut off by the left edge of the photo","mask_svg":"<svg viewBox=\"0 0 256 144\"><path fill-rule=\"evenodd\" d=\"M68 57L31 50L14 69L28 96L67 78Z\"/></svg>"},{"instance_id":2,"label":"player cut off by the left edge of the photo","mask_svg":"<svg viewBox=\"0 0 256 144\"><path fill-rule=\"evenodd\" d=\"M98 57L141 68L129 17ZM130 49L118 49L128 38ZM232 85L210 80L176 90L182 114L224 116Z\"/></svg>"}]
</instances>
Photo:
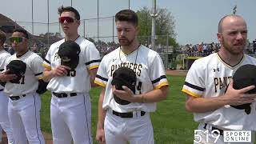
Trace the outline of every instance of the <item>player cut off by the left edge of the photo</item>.
<instances>
[{"instance_id":1,"label":"player cut off by the left edge of the photo","mask_svg":"<svg viewBox=\"0 0 256 144\"><path fill-rule=\"evenodd\" d=\"M0 31L0 72L4 70L6 65L6 59L10 57L10 54L3 50L3 44L6 42L6 34ZM11 76L12 77L12 76ZM2 74L0 74L0 81L2 81ZM4 83L0 85L0 138L2 140L2 129L5 130L8 143L13 143L14 138L10 127L10 120L8 117L8 96L4 93Z\"/></svg>"}]
</instances>

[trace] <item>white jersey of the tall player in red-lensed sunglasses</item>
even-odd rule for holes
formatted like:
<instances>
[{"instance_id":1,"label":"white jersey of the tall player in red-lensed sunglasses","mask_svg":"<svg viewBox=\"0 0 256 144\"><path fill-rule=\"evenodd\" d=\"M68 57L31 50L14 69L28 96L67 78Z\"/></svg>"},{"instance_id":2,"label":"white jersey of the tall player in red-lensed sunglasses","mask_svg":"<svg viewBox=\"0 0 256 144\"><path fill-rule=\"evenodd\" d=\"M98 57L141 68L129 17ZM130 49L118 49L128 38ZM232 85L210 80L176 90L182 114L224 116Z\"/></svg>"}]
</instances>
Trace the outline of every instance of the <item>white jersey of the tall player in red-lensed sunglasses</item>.
<instances>
[{"instance_id":1,"label":"white jersey of the tall player in red-lensed sunglasses","mask_svg":"<svg viewBox=\"0 0 256 144\"><path fill-rule=\"evenodd\" d=\"M58 56L58 47L65 42L65 38L50 46L43 65L48 69L55 69L61 65ZM90 90L90 75L87 69L98 68L100 57L93 42L78 37L74 42L78 43L81 52L78 66L70 71L66 77L54 77L50 79L47 89L55 93L84 93Z\"/></svg>"}]
</instances>

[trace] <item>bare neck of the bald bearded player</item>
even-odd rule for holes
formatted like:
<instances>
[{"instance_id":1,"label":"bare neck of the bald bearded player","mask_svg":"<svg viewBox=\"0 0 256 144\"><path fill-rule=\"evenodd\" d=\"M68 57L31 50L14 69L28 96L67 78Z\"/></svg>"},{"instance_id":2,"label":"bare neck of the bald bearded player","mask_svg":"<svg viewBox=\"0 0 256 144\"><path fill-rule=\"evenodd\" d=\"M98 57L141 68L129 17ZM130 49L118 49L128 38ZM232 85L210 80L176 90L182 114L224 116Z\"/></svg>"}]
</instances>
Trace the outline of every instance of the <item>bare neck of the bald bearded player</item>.
<instances>
[{"instance_id":1,"label":"bare neck of the bald bearded player","mask_svg":"<svg viewBox=\"0 0 256 144\"><path fill-rule=\"evenodd\" d=\"M222 60L226 63L228 63L230 66L235 66L239 62L241 62L241 59L243 58L243 53L241 54L231 54L225 48L221 48L218 51L218 55Z\"/></svg>"}]
</instances>

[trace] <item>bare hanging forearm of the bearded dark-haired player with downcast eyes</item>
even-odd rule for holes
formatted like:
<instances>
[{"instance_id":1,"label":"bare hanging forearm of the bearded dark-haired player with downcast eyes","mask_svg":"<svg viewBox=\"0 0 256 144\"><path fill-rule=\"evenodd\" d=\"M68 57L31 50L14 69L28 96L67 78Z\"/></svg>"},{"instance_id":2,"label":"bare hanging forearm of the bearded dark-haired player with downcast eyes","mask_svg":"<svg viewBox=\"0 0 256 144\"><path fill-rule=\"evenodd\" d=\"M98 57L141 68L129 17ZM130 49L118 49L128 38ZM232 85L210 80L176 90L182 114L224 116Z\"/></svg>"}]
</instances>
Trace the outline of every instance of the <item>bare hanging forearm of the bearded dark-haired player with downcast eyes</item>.
<instances>
[{"instance_id":1,"label":"bare hanging forearm of the bearded dark-haired player with downcast eyes","mask_svg":"<svg viewBox=\"0 0 256 144\"><path fill-rule=\"evenodd\" d=\"M106 110L104 110L102 108L104 94L105 94L105 89L102 89L102 92L101 92L101 94L99 96L99 99L98 99L98 124L97 124L98 128L103 128L104 127L104 120L105 120L105 117L106 117Z\"/></svg>"}]
</instances>

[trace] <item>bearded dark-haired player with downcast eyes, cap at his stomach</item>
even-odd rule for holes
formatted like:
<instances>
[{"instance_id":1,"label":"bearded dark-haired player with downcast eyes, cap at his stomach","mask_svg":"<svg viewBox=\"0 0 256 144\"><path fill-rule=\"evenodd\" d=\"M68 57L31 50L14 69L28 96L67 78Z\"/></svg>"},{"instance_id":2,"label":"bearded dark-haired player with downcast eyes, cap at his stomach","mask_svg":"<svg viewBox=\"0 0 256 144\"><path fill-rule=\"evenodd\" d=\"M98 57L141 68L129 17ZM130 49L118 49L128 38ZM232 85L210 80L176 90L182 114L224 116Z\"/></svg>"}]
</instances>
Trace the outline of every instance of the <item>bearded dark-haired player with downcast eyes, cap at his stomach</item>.
<instances>
[{"instance_id":1,"label":"bearded dark-haired player with downcast eyes, cap at his stomach","mask_svg":"<svg viewBox=\"0 0 256 144\"><path fill-rule=\"evenodd\" d=\"M156 110L156 102L166 98L168 90L162 59L139 44L138 16L133 10L119 11L115 22L120 47L102 58L95 78L95 83L102 86L96 139L106 144L154 143L149 113ZM122 73L120 67L134 71L135 90L127 86L120 90L112 81L114 75Z\"/></svg>"}]
</instances>

